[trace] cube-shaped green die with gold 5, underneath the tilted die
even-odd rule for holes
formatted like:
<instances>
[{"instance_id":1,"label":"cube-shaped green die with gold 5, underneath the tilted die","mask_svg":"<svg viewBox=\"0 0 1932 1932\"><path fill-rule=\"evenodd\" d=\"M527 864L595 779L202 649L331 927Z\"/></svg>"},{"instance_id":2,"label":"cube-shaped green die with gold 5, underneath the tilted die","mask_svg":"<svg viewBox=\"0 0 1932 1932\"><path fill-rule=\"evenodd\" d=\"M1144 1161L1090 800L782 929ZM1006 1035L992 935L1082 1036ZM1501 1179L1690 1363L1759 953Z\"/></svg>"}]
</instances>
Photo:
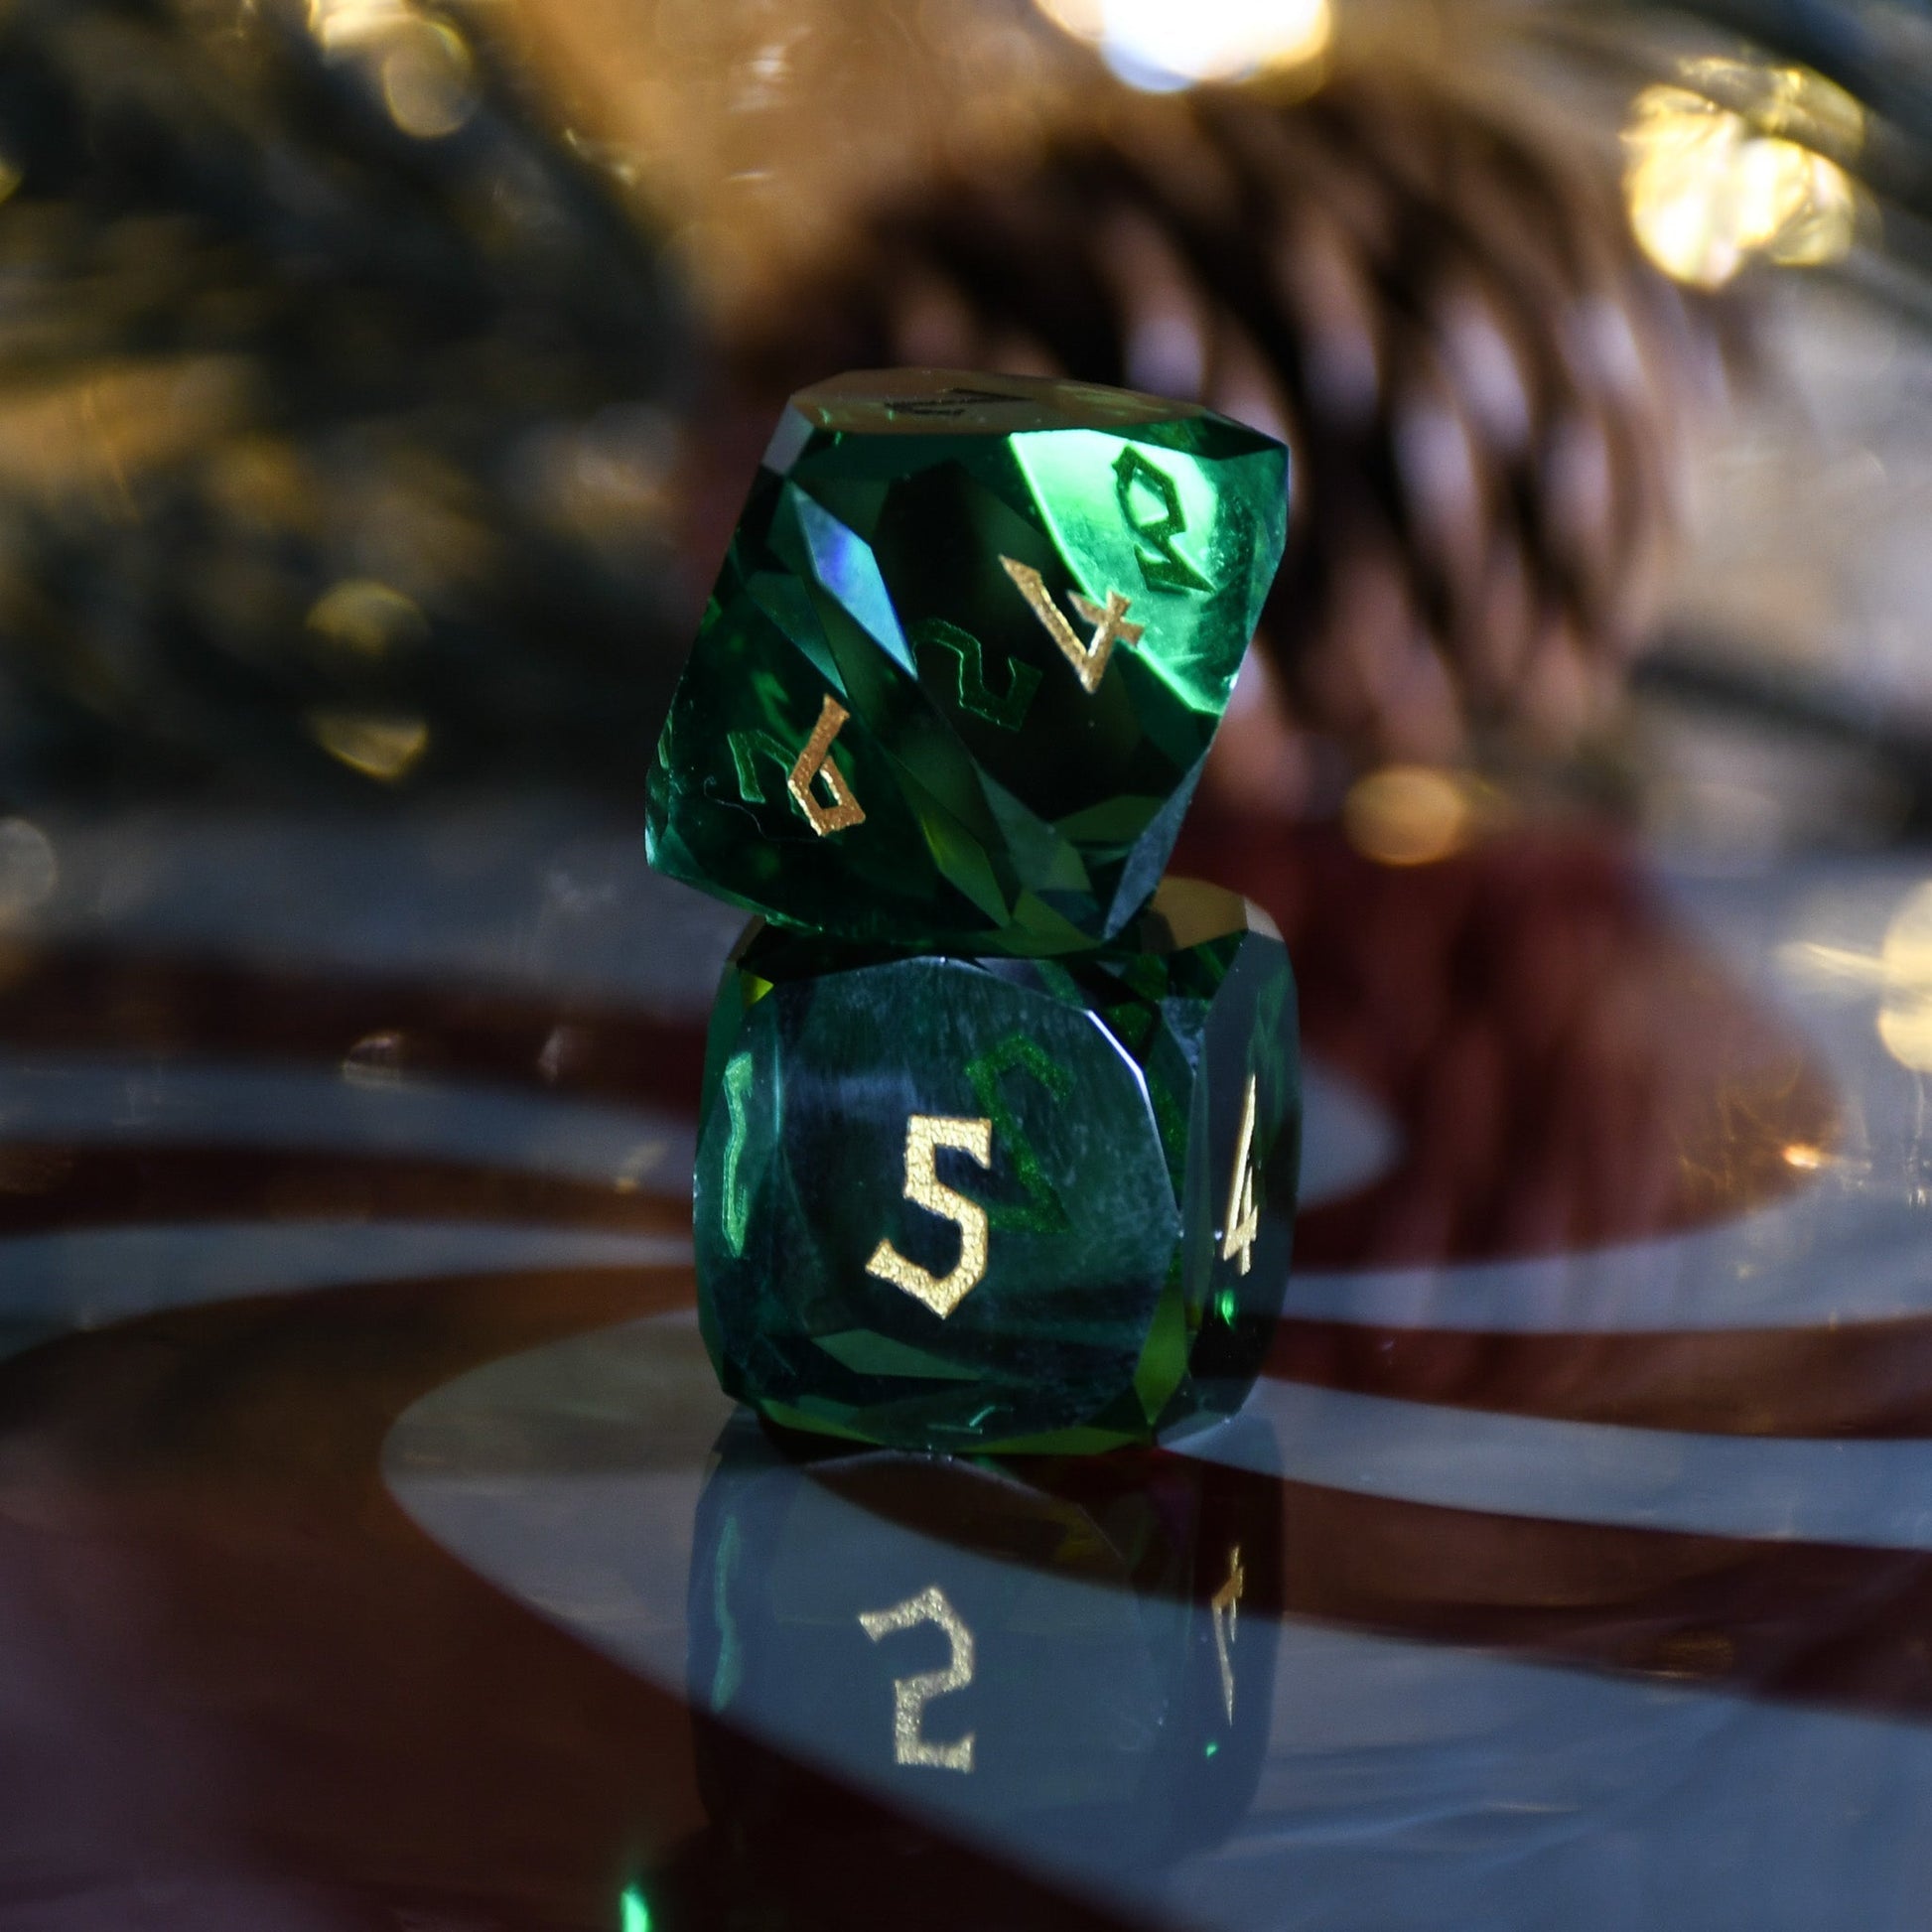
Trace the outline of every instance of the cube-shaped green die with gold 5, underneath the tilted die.
<instances>
[{"instance_id":1,"label":"cube-shaped green die with gold 5, underneath the tilted die","mask_svg":"<svg viewBox=\"0 0 1932 1932\"><path fill-rule=\"evenodd\" d=\"M1192 881L1130 939L904 958L752 925L697 1130L726 1393L918 1449L1103 1449L1240 1406L1289 1267L1289 960Z\"/></svg>"}]
</instances>

